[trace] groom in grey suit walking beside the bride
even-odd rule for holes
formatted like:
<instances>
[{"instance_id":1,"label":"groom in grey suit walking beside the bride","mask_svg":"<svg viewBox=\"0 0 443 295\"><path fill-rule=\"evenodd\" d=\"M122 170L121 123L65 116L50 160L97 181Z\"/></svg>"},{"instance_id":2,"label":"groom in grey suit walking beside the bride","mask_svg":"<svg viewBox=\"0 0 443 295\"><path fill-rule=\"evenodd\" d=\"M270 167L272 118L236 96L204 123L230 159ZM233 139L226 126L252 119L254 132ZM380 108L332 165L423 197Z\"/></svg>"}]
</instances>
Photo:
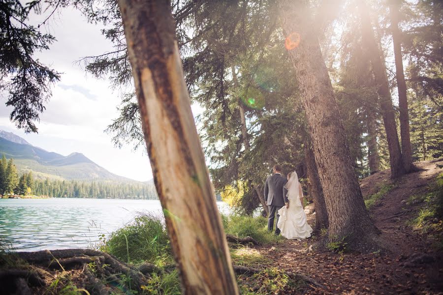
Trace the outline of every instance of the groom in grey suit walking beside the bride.
<instances>
[{"instance_id":1,"label":"groom in grey suit walking beside the bride","mask_svg":"<svg viewBox=\"0 0 443 295\"><path fill-rule=\"evenodd\" d=\"M268 231L272 232L274 228L274 218L277 213L277 221L275 223L275 235L280 234L280 229L277 228L277 224L279 223L279 213L277 212L281 207L287 204L287 189L284 187L287 179L282 176L282 166L277 164L274 165L273 168L274 174L266 178L265 188L264 188L264 197L266 201L266 205L269 208L269 216L268 216Z\"/></svg>"}]
</instances>

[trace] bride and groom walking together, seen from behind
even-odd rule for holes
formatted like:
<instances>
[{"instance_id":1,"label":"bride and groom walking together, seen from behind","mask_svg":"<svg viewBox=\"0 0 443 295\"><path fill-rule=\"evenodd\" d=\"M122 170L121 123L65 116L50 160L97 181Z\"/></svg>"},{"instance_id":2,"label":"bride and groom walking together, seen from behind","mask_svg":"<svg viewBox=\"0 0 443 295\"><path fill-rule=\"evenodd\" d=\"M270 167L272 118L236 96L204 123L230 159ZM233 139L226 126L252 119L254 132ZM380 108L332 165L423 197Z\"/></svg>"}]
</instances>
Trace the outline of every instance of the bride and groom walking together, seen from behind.
<instances>
[{"instance_id":1,"label":"bride and groom walking together, seen from behind","mask_svg":"<svg viewBox=\"0 0 443 295\"><path fill-rule=\"evenodd\" d=\"M268 230L274 228L275 214L277 222L275 234L288 239L304 239L311 236L312 228L306 221L303 206L303 190L294 171L282 176L282 166L275 165L274 174L266 178L264 197L269 208Z\"/></svg>"}]
</instances>

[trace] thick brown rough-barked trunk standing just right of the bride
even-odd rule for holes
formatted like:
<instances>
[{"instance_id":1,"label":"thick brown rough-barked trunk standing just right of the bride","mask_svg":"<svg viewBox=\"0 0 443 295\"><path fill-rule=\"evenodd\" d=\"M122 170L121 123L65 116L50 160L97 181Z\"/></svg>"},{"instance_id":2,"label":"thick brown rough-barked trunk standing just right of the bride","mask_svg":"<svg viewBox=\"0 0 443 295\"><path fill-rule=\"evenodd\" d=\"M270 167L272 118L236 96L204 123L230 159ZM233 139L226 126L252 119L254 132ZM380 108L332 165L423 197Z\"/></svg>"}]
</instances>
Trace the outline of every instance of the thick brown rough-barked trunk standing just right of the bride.
<instances>
[{"instance_id":1,"label":"thick brown rough-barked trunk standing just right of the bride","mask_svg":"<svg viewBox=\"0 0 443 295\"><path fill-rule=\"evenodd\" d=\"M305 0L280 0L289 56L303 96L318 174L329 217L329 240L346 239L353 249L374 245L374 226L354 174L348 141L334 98L311 11ZM297 44L299 40L299 44Z\"/></svg>"}]
</instances>

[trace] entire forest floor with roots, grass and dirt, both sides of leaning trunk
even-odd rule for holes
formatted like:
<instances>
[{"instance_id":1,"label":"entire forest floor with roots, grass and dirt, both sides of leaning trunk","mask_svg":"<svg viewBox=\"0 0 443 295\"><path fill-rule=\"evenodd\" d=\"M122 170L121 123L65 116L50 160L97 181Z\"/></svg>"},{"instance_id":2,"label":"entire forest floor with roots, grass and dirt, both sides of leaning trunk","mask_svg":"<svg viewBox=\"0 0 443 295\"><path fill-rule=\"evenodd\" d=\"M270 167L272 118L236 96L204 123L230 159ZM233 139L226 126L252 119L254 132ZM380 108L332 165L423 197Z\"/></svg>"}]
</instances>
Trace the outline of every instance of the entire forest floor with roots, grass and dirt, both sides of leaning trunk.
<instances>
[{"instance_id":1,"label":"entire forest floor with roots, grass and dirt, both sides of leaning trunk","mask_svg":"<svg viewBox=\"0 0 443 295\"><path fill-rule=\"evenodd\" d=\"M261 240L255 246L229 242L241 293L443 294L443 160L415 164L419 171L395 182L385 170L360 183L381 232L383 249L374 253L349 253L345 243L320 250L316 244L326 230L306 240L286 240L267 232L264 217L224 216L226 233ZM308 222L314 225L315 213L308 214ZM160 219L141 216L103 246L100 251L0 251L0 294L182 294ZM150 251L154 258L143 256Z\"/></svg>"}]
</instances>

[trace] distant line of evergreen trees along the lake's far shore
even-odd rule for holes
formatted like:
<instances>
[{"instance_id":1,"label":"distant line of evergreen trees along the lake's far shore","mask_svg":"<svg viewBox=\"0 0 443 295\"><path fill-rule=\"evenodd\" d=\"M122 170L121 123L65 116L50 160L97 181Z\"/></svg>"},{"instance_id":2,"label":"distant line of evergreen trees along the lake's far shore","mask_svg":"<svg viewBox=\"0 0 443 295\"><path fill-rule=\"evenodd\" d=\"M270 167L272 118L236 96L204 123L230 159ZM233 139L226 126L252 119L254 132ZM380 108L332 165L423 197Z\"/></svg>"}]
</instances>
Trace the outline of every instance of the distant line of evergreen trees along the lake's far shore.
<instances>
[{"instance_id":1,"label":"distant line of evergreen trees along the lake's far shore","mask_svg":"<svg viewBox=\"0 0 443 295\"><path fill-rule=\"evenodd\" d=\"M157 200L154 185L136 182L41 180L32 172L19 177L14 160L0 160L0 194L37 195L53 198L147 199Z\"/></svg>"}]
</instances>

